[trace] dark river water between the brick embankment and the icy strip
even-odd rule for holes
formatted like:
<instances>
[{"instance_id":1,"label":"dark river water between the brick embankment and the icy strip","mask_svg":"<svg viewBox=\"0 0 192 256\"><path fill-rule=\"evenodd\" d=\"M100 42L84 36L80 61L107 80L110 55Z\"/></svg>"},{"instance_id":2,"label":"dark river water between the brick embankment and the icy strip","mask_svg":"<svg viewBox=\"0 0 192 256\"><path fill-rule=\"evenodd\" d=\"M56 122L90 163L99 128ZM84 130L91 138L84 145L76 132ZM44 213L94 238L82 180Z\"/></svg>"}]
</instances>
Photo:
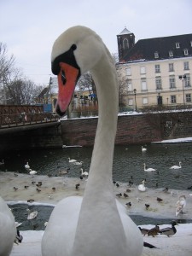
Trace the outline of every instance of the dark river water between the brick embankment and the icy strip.
<instances>
[{"instance_id":1,"label":"dark river water between the brick embankment and the icy strip","mask_svg":"<svg viewBox=\"0 0 192 256\"><path fill-rule=\"evenodd\" d=\"M116 146L113 159L113 179L128 183L132 180L138 184L146 178L146 186L187 189L192 185L192 144L148 144L147 152L142 152L141 145ZM92 148L57 148L14 152L2 155L5 165L1 171L24 172L26 161L38 174L58 175L59 171L69 167L68 157L83 161L84 171L89 171ZM104 155L104 154L103 154ZM173 165L182 162L179 170L170 170ZM157 172L144 172L143 163L153 167ZM68 177L79 177L80 166L70 164Z\"/></svg>"}]
</instances>

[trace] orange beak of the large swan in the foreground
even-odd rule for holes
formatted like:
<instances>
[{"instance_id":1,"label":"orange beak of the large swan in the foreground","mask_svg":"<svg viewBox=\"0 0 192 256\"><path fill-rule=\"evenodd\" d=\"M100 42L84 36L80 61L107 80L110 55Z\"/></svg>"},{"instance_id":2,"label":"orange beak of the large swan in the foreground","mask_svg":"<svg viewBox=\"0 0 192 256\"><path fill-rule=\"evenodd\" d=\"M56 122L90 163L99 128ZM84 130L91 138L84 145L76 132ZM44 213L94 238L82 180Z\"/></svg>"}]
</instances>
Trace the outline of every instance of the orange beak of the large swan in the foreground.
<instances>
[{"instance_id":1,"label":"orange beak of the large swan in the foreground","mask_svg":"<svg viewBox=\"0 0 192 256\"><path fill-rule=\"evenodd\" d=\"M79 69L63 62L60 62L60 67L60 73L57 75L59 92L56 112L62 116L72 100L75 85L79 78Z\"/></svg>"}]
</instances>

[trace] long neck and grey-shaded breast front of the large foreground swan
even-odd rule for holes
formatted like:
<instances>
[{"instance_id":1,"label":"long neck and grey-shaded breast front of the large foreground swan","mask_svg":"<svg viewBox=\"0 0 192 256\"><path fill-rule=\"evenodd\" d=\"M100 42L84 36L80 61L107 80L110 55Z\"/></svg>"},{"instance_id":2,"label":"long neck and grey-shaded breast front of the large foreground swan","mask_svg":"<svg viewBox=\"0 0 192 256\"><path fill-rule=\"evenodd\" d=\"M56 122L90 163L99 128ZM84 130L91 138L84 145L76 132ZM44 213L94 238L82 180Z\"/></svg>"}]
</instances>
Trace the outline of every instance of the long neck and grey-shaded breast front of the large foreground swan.
<instances>
[{"instance_id":1,"label":"long neck and grey-shaded breast front of the large foreground swan","mask_svg":"<svg viewBox=\"0 0 192 256\"><path fill-rule=\"evenodd\" d=\"M125 231L113 195L112 166L117 129L118 86L115 67L108 58L107 50L101 62L91 71L96 83L99 119L73 255L103 255L103 250L105 255L127 255ZM110 61L111 64L108 63ZM84 241L89 246L84 245L81 252Z\"/></svg>"}]
</instances>

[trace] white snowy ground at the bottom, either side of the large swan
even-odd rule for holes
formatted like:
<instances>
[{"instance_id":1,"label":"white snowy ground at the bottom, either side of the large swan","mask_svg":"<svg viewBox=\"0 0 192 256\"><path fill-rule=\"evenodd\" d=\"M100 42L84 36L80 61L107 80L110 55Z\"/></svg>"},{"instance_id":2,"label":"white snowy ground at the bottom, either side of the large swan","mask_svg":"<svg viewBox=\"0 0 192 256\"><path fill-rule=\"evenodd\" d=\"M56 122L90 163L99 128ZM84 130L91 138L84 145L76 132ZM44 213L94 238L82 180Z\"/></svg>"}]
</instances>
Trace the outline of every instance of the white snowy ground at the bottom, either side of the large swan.
<instances>
[{"instance_id":1,"label":"white snowy ground at the bottom, either side of the large swan","mask_svg":"<svg viewBox=\"0 0 192 256\"><path fill-rule=\"evenodd\" d=\"M164 228L167 225L162 225ZM152 228L152 225L141 227ZM20 231L23 241L14 245L11 256L41 256L41 239L44 231ZM143 247L142 256L191 256L192 255L192 224L179 224L177 233L172 237L158 235L144 236L143 241L153 244L157 248Z\"/></svg>"}]
</instances>

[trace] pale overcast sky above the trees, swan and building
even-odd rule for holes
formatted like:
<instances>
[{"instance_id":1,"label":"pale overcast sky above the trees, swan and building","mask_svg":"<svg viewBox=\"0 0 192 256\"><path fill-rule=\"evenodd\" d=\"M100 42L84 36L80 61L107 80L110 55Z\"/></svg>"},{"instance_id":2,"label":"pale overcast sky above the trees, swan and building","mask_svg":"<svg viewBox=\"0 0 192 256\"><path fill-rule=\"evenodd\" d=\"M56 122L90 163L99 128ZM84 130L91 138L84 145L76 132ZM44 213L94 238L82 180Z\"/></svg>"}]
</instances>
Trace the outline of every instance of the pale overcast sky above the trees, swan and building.
<instances>
[{"instance_id":1,"label":"pale overcast sky above the trees, swan and building","mask_svg":"<svg viewBox=\"0 0 192 256\"><path fill-rule=\"evenodd\" d=\"M111 53L125 26L136 42L192 33L191 0L0 0L0 42L16 67L36 84L49 84L50 53L61 32L89 26Z\"/></svg>"}]
</instances>

